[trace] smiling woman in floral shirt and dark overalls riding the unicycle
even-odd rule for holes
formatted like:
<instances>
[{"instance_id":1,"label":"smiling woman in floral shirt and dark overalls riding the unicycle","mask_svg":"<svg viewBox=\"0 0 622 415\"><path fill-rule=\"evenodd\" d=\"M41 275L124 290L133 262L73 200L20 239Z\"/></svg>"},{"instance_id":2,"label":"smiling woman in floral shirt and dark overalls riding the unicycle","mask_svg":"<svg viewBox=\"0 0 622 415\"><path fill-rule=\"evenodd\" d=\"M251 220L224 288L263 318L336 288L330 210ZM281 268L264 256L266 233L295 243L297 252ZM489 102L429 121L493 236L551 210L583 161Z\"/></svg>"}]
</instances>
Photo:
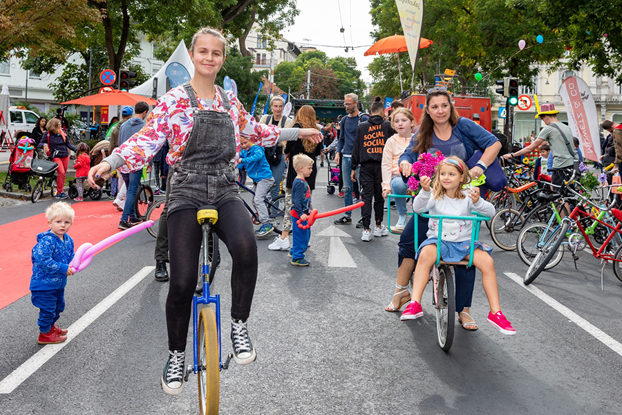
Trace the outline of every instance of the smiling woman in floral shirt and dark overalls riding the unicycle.
<instances>
[{"instance_id":1,"label":"smiling woman in floral shirt and dark overalls riding the unicycle","mask_svg":"<svg viewBox=\"0 0 622 415\"><path fill-rule=\"evenodd\" d=\"M233 262L234 359L246 365L256 357L247 319L257 279L257 246L232 164L238 158L239 139L244 137L265 147L274 146L277 140L308 138L320 142L322 138L315 129L258 124L232 91L216 86L216 75L225 62L225 37L218 30L202 28L195 33L189 53L194 77L162 96L145 127L88 175L88 181L95 185L94 178L114 169L142 169L164 142L171 146L167 155L167 163L173 166L167 216L171 258L166 304L169 359L161 380L162 389L171 395L179 394L184 383L186 338L202 241L197 208L216 205L220 212L214 231L227 246Z\"/></svg>"}]
</instances>

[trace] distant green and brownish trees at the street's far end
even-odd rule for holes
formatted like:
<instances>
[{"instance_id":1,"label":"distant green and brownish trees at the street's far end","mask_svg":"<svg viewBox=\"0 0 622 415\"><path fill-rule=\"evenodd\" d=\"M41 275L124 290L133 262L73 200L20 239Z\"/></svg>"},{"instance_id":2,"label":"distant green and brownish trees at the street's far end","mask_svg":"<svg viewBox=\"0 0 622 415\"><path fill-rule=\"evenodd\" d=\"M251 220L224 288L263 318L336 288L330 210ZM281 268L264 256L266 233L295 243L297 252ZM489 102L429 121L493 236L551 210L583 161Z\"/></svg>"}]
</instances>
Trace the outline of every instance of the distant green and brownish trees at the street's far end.
<instances>
[{"instance_id":1,"label":"distant green and brownish trees at the street's far end","mask_svg":"<svg viewBox=\"0 0 622 415\"><path fill-rule=\"evenodd\" d=\"M301 53L294 62L281 62L274 68L274 83L298 97L306 94L307 71L311 71L311 98L341 100L346 93L361 95L365 85L354 57L328 59L321 50Z\"/></svg>"}]
</instances>

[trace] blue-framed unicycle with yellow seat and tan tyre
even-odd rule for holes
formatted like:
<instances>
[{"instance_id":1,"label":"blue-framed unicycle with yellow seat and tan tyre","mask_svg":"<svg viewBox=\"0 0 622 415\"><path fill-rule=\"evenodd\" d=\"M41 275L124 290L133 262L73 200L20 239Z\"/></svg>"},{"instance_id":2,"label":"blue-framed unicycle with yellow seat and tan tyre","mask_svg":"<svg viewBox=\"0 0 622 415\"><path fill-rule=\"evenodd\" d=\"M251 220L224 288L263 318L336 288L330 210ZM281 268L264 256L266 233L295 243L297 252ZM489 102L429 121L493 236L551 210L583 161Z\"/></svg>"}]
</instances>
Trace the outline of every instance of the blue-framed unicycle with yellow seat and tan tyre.
<instances>
[{"instance_id":1,"label":"blue-framed unicycle with yellow seat and tan tyre","mask_svg":"<svg viewBox=\"0 0 622 415\"><path fill-rule=\"evenodd\" d=\"M188 366L186 371L187 381L190 371L198 375L198 397L201 415L218 414L218 399L220 396L220 371L229 368L229 362L233 353L229 353L225 362L222 362L222 350L220 347L220 295L210 295L209 276L210 268L218 266L211 263L214 258L213 244L207 243L211 237L216 237L214 224L218 221L218 209L216 206L204 205L198 208L196 220L201 225L203 234L202 243L202 295L195 295L192 299L192 322L193 322L193 357L194 365ZM212 274L213 275L213 270ZM198 308L199 304L214 304L214 310L205 306Z\"/></svg>"}]
</instances>

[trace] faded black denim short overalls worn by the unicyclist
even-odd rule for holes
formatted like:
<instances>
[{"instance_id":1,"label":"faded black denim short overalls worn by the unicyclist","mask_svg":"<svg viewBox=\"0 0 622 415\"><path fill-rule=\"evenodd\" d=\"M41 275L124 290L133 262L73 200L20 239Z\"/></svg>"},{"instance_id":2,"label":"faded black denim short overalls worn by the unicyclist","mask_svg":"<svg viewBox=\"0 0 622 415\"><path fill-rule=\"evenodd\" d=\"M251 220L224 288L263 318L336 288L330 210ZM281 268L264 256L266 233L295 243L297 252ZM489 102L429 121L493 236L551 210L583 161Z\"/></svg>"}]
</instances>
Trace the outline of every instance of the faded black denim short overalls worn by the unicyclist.
<instances>
[{"instance_id":1,"label":"faded black denim short overalls worn by the unicyclist","mask_svg":"<svg viewBox=\"0 0 622 415\"><path fill-rule=\"evenodd\" d=\"M218 86L226 112L200 110L190 83L183 87L193 108L193 123L182 158L173 168L168 214L240 199L232 165L236 137L227 94Z\"/></svg>"}]
</instances>

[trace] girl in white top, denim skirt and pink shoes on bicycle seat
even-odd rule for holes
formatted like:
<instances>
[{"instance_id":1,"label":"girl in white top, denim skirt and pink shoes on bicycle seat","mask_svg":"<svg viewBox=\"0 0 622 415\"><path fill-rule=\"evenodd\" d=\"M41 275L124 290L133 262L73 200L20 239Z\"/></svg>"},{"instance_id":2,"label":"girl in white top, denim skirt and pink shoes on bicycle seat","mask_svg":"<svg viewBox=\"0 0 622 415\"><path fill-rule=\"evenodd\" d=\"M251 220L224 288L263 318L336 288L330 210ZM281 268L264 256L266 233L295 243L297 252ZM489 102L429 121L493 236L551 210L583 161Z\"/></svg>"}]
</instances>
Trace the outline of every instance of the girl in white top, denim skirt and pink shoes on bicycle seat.
<instances>
[{"instance_id":1,"label":"girl in white top, denim skirt and pink shoes on bicycle seat","mask_svg":"<svg viewBox=\"0 0 622 415\"><path fill-rule=\"evenodd\" d=\"M480 189L472 187L463 190L464 185L471 183L471 174L466 163L457 157L445 158L438 165L434 183L428 176L421 177L422 190L415 197L413 210L416 213L430 211L430 214L446 216L471 216L475 210L484 216L493 216L495 208L492 203L480 198ZM428 221L428 233L423 241L415 259L415 277L413 280L413 293L411 303L406 306L399 320L415 320L422 317L421 297L430 279L430 270L437 259L437 250L440 249L441 258L446 262L460 262L471 254L471 232L473 222L461 219L444 219L442 221L441 246L437 246L439 220L431 218ZM488 297L490 313L488 322L495 326L501 333L507 335L516 334L510 322L501 313L499 304L499 288L497 275L492 257L489 255L492 248L485 243L475 241L473 248L473 265L482 272L482 284Z\"/></svg>"}]
</instances>

